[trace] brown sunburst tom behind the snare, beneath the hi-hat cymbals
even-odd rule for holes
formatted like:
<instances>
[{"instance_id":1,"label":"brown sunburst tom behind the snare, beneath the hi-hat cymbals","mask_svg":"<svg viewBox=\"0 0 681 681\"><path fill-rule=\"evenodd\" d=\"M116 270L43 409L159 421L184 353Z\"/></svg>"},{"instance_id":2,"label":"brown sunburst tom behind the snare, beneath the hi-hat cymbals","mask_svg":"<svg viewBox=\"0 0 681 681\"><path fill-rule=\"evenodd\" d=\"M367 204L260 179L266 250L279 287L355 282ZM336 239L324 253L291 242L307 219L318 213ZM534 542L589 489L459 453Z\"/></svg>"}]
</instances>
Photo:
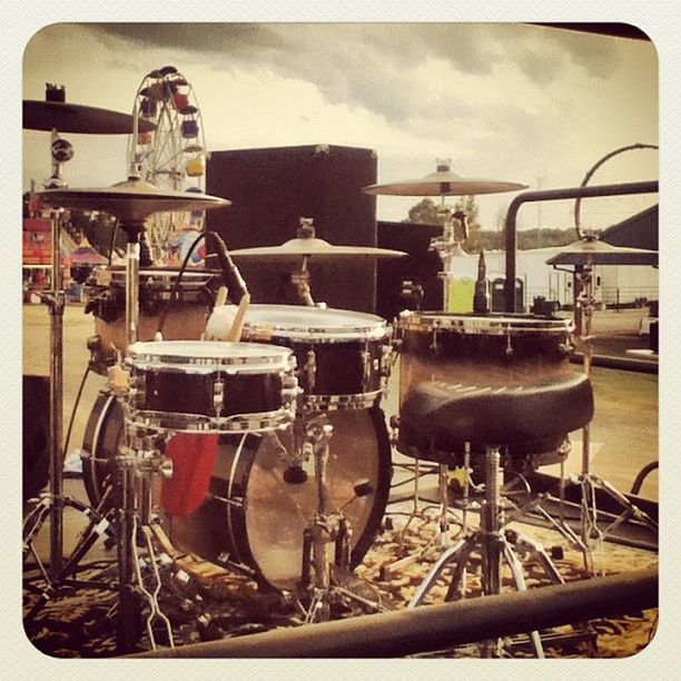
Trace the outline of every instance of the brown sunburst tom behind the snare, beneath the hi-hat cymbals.
<instances>
[{"instance_id":1,"label":"brown sunburst tom behind the snare, beneath the hi-hat cymbals","mask_svg":"<svg viewBox=\"0 0 681 681\"><path fill-rule=\"evenodd\" d=\"M172 294L178 269L141 269L139 273L139 340L152 340L160 316ZM86 312L95 316L95 333L101 338L92 367L106 375L116 361L116 349L124 352L126 342L126 269L111 267L96 270L86 284ZM170 303L164 324L166 340L198 340L215 304L223 279L217 270L188 269L182 273L177 295Z\"/></svg>"}]
</instances>

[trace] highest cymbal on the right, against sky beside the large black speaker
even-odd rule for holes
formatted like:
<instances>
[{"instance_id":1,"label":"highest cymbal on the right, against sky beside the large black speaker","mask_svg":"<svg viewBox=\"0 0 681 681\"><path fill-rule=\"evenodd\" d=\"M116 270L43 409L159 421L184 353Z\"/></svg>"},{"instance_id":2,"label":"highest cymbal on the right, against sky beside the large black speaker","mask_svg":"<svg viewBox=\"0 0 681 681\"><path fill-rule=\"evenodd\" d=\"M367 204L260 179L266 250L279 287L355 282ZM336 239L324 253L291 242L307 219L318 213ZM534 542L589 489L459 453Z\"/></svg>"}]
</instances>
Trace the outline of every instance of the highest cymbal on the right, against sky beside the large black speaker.
<instances>
[{"instance_id":1,"label":"highest cymbal on the right, against sky beside the large black speaker","mask_svg":"<svg viewBox=\"0 0 681 681\"><path fill-rule=\"evenodd\" d=\"M450 168L448 164L438 164L435 172L430 172L420 179L408 179L387 185L369 185L364 187L365 194L386 196L474 196L477 194L501 194L526 189L527 185L491 180L473 177L462 177Z\"/></svg>"}]
</instances>

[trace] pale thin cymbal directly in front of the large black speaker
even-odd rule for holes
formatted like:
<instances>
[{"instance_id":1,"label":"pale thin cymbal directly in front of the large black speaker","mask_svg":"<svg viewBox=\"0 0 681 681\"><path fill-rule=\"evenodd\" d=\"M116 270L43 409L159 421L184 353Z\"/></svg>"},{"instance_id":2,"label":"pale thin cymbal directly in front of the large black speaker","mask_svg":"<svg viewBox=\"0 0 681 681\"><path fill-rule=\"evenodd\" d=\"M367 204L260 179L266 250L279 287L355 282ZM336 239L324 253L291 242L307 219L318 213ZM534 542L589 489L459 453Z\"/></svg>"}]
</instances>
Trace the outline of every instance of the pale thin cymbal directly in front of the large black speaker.
<instances>
[{"instance_id":1,"label":"pale thin cymbal directly in front of the large black speaker","mask_svg":"<svg viewBox=\"0 0 681 681\"><path fill-rule=\"evenodd\" d=\"M297 260L302 257L315 259L340 259L340 258L401 258L406 253L392 250L389 248L374 248L371 246L333 246L324 239L295 238L280 246L261 246L256 248L240 248L230 250L229 255L245 260Z\"/></svg>"}]
</instances>

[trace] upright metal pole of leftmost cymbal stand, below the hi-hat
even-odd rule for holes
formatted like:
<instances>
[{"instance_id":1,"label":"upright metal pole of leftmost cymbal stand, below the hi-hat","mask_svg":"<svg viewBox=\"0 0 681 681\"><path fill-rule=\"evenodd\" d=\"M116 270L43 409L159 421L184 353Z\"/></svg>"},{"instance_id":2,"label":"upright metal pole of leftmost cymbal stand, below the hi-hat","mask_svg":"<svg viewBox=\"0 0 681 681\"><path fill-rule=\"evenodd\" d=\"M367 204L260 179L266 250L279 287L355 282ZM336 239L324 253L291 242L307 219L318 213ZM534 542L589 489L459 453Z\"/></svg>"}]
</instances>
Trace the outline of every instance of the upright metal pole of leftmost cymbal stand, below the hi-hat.
<instances>
[{"instance_id":1,"label":"upright metal pole of leftmost cymbal stand, below the hi-hat","mask_svg":"<svg viewBox=\"0 0 681 681\"><path fill-rule=\"evenodd\" d=\"M52 276L47 305L50 312L50 573L63 565L63 306L60 214L51 213Z\"/></svg>"}]
</instances>

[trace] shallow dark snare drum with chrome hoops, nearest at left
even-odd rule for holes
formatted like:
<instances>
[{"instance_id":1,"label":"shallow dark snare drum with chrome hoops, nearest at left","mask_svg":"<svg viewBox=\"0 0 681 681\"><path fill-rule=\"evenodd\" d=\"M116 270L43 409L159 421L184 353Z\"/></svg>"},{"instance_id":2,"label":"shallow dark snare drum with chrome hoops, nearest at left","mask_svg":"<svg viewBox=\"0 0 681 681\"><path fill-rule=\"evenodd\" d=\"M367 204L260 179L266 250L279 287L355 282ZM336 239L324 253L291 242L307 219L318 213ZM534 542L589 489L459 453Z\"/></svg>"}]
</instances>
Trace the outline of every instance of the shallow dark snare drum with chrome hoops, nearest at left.
<instances>
[{"instance_id":1,"label":"shallow dark snare drum with chrome hoops, nearest at left","mask_svg":"<svg viewBox=\"0 0 681 681\"><path fill-rule=\"evenodd\" d=\"M293 353L254 343L134 343L125 366L129 423L172 432L269 431L295 415Z\"/></svg>"}]
</instances>

